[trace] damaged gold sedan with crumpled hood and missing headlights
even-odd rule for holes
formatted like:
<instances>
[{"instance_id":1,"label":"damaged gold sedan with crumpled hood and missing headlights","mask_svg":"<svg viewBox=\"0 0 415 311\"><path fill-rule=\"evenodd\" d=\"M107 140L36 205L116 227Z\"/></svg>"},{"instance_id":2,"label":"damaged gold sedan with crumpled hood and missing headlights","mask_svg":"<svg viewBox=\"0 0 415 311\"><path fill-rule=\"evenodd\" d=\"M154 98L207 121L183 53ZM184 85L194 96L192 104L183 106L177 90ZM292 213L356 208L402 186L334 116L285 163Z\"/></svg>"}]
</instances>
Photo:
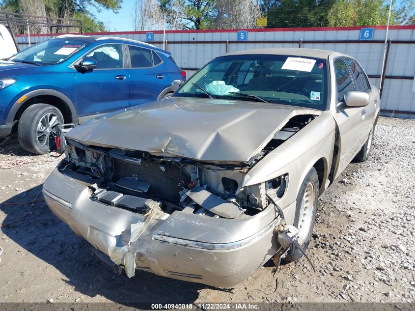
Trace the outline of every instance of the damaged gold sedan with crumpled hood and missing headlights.
<instances>
[{"instance_id":1,"label":"damaged gold sedan with crumpled hood and missing headlights","mask_svg":"<svg viewBox=\"0 0 415 311\"><path fill-rule=\"evenodd\" d=\"M118 273L232 286L303 255L318 198L367 158L379 104L346 55L228 54L170 98L71 130L43 194Z\"/></svg>"}]
</instances>

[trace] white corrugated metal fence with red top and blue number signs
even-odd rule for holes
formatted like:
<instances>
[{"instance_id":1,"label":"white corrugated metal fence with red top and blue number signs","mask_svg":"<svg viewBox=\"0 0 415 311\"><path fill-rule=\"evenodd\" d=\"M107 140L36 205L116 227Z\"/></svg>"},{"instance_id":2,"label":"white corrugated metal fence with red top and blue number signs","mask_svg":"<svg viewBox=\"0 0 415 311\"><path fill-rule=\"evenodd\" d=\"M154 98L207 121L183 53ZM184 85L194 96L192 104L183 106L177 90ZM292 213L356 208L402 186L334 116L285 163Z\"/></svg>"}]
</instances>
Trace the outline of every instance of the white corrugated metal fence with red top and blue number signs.
<instances>
[{"instance_id":1,"label":"white corrugated metal fence with red top and blue number signs","mask_svg":"<svg viewBox=\"0 0 415 311\"><path fill-rule=\"evenodd\" d=\"M125 37L163 47L163 31L98 32L86 35ZM166 31L166 50L188 72L188 76L214 57L245 49L293 47L345 53L362 64L373 85L379 87L382 80L381 109L384 114L415 117L415 26L389 28L386 62L382 70L385 36L385 26L171 30ZM152 40L149 41L148 37ZM17 39L19 46L27 46L28 43L23 42L21 36ZM48 35L32 35L32 43L47 39ZM381 77L382 72L384 74Z\"/></svg>"}]
</instances>

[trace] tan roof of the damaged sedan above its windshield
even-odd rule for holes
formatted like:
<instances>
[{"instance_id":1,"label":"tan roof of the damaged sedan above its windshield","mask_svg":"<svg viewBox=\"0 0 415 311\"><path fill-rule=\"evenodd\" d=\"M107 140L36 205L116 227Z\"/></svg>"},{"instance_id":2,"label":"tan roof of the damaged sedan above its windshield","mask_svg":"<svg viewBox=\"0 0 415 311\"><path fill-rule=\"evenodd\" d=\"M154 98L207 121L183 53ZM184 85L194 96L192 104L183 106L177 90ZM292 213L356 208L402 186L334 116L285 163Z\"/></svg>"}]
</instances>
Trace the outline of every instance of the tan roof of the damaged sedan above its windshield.
<instances>
[{"instance_id":1,"label":"tan roof of the damaged sedan above its windshield","mask_svg":"<svg viewBox=\"0 0 415 311\"><path fill-rule=\"evenodd\" d=\"M317 49L300 49L300 48L268 48L268 49L252 49L242 50L226 54L230 55L294 55L294 56L305 56L305 57L317 57L317 58L328 58L331 54L341 55L338 52L329 50L317 50Z\"/></svg>"}]
</instances>

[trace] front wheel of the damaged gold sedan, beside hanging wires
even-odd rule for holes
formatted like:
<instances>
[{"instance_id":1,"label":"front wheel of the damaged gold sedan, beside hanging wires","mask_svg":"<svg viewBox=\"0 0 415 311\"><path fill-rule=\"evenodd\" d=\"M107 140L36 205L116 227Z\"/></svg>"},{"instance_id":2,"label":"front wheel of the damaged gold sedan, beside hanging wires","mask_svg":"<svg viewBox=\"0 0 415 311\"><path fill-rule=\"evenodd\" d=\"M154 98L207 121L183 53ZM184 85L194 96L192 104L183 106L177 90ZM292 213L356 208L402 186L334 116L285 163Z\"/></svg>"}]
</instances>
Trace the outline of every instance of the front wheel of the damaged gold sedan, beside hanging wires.
<instances>
[{"instance_id":1,"label":"front wheel of the damaged gold sedan, beside hanging wires","mask_svg":"<svg viewBox=\"0 0 415 311\"><path fill-rule=\"evenodd\" d=\"M300 229L297 241L304 253L310 244L311 234L313 233L314 224L316 222L318 189L319 182L317 171L312 168L305 176L300 191L298 192L294 218L294 226ZM284 261L298 260L303 255L304 254L296 246L291 245Z\"/></svg>"}]
</instances>

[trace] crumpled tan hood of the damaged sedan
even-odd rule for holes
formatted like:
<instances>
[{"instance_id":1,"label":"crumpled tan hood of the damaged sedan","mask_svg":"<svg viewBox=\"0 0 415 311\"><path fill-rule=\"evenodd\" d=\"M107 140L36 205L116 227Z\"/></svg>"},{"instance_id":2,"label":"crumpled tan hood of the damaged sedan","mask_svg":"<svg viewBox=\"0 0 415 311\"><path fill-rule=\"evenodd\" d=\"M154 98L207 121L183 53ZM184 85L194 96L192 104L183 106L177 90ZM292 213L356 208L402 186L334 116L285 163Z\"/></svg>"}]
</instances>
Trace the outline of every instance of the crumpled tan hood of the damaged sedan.
<instances>
[{"instance_id":1,"label":"crumpled tan hood of the damaged sedan","mask_svg":"<svg viewBox=\"0 0 415 311\"><path fill-rule=\"evenodd\" d=\"M246 162L294 115L321 111L251 101L170 97L105 114L66 135L87 145L205 162Z\"/></svg>"}]
</instances>

